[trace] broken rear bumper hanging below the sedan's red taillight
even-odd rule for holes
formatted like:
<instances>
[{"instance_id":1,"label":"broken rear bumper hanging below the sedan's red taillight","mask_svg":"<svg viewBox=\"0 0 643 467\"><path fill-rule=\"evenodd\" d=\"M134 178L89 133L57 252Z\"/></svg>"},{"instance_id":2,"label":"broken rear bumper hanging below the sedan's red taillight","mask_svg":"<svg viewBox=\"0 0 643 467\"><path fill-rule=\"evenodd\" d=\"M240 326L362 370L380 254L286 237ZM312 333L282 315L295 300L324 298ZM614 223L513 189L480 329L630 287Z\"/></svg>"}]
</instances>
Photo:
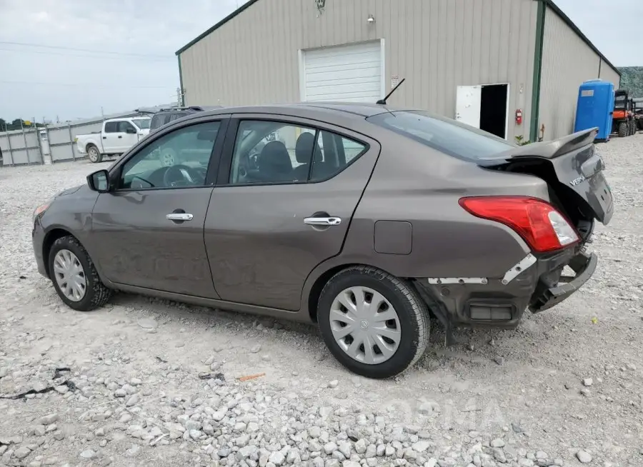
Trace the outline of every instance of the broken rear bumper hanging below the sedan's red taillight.
<instances>
[{"instance_id":1,"label":"broken rear bumper hanging below the sedan's red taillight","mask_svg":"<svg viewBox=\"0 0 643 467\"><path fill-rule=\"evenodd\" d=\"M579 248L527 255L502 278L417 278L414 285L447 330L458 326L514 328L524 310L547 310L586 283L598 258ZM569 266L575 276L562 276Z\"/></svg>"}]
</instances>

